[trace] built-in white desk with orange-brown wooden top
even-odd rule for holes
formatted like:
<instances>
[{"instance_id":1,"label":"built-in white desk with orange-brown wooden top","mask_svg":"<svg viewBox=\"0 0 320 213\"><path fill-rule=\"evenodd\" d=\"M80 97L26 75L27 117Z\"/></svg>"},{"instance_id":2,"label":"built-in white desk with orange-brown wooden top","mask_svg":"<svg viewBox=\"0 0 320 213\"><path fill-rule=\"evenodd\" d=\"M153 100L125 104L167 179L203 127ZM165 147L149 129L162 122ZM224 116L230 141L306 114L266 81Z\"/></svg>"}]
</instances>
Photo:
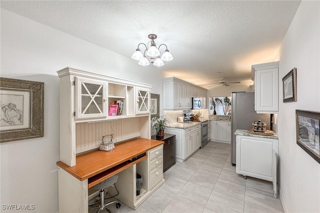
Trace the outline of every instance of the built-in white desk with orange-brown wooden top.
<instances>
[{"instance_id":1,"label":"built-in white desk with orange-brown wooden top","mask_svg":"<svg viewBox=\"0 0 320 213\"><path fill-rule=\"evenodd\" d=\"M150 159L162 157L163 141L136 138L115 145L110 151L95 150L76 156L76 164L68 166L62 161L58 165L59 212L87 212L88 188L104 179L118 174L117 188L122 202L135 209L163 182L163 173L150 175ZM146 155L130 161L134 156ZM162 167L161 167L162 168ZM136 172L144 176L144 190L135 195ZM150 182L154 182L152 188ZM159 181L158 181L159 180Z\"/></svg>"}]
</instances>

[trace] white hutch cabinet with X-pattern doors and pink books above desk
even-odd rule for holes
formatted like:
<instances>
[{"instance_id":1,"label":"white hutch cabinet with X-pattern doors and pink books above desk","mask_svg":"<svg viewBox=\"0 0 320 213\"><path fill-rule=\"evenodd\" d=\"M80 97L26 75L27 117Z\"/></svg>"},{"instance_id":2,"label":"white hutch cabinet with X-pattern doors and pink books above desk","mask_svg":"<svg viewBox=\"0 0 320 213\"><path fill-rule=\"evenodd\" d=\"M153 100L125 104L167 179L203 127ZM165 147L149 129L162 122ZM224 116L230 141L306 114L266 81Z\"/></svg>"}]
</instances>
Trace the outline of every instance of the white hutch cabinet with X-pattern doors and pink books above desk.
<instances>
[{"instance_id":1,"label":"white hutch cabinet with X-pattern doors and pink books above desk","mask_svg":"<svg viewBox=\"0 0 320 213\"><path fill-rule=\"evenodd\" d=\"M63 102L64 110L69 108L76 122L118 119L150 113L149 84L68 67L59 70L58 76L61 96L66 97Z\"/></svg>"}]
</instances>

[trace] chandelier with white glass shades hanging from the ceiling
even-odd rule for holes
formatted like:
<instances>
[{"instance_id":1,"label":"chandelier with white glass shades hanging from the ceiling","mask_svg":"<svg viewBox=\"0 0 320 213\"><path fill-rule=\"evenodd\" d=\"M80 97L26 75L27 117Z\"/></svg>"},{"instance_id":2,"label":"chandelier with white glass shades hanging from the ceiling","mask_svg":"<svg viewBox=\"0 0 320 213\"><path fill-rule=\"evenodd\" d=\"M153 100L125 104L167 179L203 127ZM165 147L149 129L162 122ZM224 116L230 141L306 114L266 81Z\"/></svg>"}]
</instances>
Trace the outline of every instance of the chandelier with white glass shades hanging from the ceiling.
<instances>
[{"instance_id":1,"label":"chandelier with white glass shades hanging from the ceiling","mask_svg":"<svg viewBox=\"0 0 320 213\"><path fill-rule=\"evenodd\" d=\"M134 60L139 61L138 64L142 66L147 66L151 62L155 66L163 66L164 65L163 61L169 61L173 59L171 53L169 52L167 46L164 43L160 44L158 48L156 47L154 42L154 39L156 39L155 34L149 34L148 38L151 40L147 43L147 45L145 45L144 43L139 43L138 47L135 49L135 52L133 52L131 56L131 58L133 58ZM150 43L150 46L148 47L149 43ZM145 46L145 50L143 54L139 49L140 44L143 44ZM162 45L165 46L165 50L163 54L160 56L161 52L159 51L159 49L160 49L160 46ZM150 58L150 62L147 59L147 57Z\"/></svg>"}]
</instances>

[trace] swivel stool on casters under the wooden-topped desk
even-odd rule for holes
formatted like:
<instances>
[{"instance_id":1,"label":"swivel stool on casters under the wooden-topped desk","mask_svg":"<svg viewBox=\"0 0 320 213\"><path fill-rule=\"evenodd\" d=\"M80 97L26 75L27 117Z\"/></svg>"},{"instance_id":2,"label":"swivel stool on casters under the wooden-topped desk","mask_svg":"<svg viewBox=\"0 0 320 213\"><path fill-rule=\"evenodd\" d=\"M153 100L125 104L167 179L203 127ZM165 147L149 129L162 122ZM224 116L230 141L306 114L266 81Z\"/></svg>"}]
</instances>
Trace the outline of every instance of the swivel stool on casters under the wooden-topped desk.
<instances>
[{"instance_id":1,"label":"swivel stool on casters under the wooden-topped desk","mask_svg":"<svg viewBox=\"0 0 320 213\"><path fill-rule=\"evenodd\" d=\"M113 183L115 183L117 179L118 179L118 175L113 175L113 176L107 178L106 180L103 180L102 182L100 182L100 183L98 183L96 185L93 185L91 187L92 189L100 189L100 204L97 207L90 207L89 209L99 208L97 213L100 212L100 210L105 209L105 210L107 210L108 212L111 213L111 211L106 208L107 205L115 203L116 208L119 208L121 206L121 204L119 202L117 202L117 201L111 201L111 202L108 202L108 203L104 204L104 188L106 188L106 187L112 185Z\"/></svg>"}]
</instances>

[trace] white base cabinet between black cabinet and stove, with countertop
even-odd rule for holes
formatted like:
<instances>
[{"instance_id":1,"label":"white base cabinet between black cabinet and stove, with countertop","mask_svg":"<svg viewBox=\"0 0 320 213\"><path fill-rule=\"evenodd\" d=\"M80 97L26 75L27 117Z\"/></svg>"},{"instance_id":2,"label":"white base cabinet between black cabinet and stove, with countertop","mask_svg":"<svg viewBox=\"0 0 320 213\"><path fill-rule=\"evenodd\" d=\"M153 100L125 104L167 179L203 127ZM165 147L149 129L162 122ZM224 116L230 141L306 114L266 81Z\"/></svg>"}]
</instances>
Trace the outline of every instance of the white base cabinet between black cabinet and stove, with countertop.
<instances>
[{"instance_id":1,"label":"white base cabinet between black cabinet and stove, with countertop","mask_svg":"<svg viewBox=\"0 0 320 213\"><path fill-rule=\"evenodd\" d=\"M175 158L185 160L191 156L201 145L201 124L188 128L165 129L166 133L175 134Z\"/></svg>"}]
</instances>

